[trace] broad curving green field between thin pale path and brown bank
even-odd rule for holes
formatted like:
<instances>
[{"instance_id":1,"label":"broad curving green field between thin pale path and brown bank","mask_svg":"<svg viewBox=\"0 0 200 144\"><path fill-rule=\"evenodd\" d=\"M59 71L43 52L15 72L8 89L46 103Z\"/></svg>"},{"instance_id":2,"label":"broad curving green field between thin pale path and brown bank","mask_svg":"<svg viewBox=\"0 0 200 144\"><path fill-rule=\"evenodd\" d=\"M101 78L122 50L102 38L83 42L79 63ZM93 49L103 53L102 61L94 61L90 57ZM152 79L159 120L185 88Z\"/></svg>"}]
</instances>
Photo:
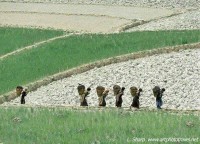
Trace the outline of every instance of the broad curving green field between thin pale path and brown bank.
<instances>
[{"instance_id":1,"label":"broad curving green field between thin pale path and brown bank","mask_svg":"<svg viewBox=\"0 0 200 144\"><path fill-rule=\"evenodd\" d=\"M59 39L0 61L0 94L88 62L199 41L199 30L88 34Z\"/></svg>"}]
</instances>

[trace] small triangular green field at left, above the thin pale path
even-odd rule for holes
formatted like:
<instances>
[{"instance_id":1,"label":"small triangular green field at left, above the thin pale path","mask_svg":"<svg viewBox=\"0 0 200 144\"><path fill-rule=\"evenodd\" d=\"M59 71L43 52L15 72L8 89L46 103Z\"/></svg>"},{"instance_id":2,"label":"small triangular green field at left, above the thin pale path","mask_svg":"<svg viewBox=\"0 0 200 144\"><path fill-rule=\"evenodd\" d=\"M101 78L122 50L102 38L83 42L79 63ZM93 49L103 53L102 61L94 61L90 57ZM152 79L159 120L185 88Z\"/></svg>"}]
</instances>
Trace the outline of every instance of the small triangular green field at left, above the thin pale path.
<instances>
[{"instance_id":1,"label":"small triangular green field at left, above the thin pale path","mask_svg":"<svg viewBox=\"0 0 200 144\"><path fill-rule=\"evenodd\" d=\"M63 33L63 31L0 27L0 56Z\"/></svg>"}]
</instances>

